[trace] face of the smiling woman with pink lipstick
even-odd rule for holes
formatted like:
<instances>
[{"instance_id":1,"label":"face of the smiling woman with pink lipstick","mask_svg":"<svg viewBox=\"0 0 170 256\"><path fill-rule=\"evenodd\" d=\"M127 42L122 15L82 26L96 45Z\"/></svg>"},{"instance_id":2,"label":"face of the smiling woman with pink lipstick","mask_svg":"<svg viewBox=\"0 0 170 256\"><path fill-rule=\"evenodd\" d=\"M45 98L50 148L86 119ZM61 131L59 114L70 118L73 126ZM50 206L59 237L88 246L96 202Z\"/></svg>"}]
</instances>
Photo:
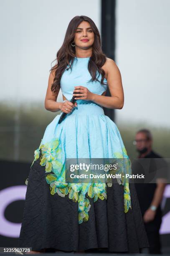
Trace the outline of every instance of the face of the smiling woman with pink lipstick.
<instances>
[{"instance_id":1,"label":"face of the smiling woman with pink lipstick","mask_svg":"<svg viewBox=\"0 0 170 256\"><path fill-rule=\"evenodd\" d=\"M88 49L94 43L94 32L87 21L82 21L76 29L74 43L81 49Z\"/></svg>"}]
</instances>

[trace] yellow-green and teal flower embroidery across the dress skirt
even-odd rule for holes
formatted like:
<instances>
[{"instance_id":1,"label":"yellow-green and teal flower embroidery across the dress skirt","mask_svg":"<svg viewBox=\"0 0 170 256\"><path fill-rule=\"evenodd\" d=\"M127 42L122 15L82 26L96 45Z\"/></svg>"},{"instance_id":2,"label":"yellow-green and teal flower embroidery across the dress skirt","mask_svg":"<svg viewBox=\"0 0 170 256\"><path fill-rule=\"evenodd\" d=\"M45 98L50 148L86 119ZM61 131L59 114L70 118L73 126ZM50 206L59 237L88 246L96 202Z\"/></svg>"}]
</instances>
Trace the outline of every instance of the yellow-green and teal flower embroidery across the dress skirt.
<instances>
[{"instance_id":1,"label":"yellow-green and teal flower embroidery across the dress skirt","mask_svg":"<svg viewBox=\"0 0 170 256\"><path fill-rule=\"evenodd\" d=\"M41 141L42 142L42 141ZM41 156L40 156L41 150ZM78 222L81 224L83 221L87 221L89 219L89 209L91 207L89 199L94 198L94 202L96 200L101 199L107 200L107 186L111 187L111 180L107 180L107 182L102 183L100 180L97 182L91 183L66 183L65 181L65 161L62 161L62 147L60 144L60 140L58 138L53 138L50 142L45 144L41 143L39 148L34 151L34 161L40 158L40 165L45 166L45 172L49 173L46 176L46 182L50 185L50 193L51 195L55 195L56 193L65 197L69 194L69 199L74 202L78 202ZM128 159L127 152L125 148L122 148L122 152L116 152L114 154L115 158L124 158L127 157L126 171L130 171L130 160ZM33 165L32 163L32 165ZM31 166L32 166L31 165ZM123 166L124 167L124 166ZM120 169L119 172L122 172ZM126 213L131 207L131 198L129 191L129 183L124 180L118 181L119 184L124 185L124 212ZM28 185L28 179L26 179L25 184Z\"/></svg>"}]
</instances>

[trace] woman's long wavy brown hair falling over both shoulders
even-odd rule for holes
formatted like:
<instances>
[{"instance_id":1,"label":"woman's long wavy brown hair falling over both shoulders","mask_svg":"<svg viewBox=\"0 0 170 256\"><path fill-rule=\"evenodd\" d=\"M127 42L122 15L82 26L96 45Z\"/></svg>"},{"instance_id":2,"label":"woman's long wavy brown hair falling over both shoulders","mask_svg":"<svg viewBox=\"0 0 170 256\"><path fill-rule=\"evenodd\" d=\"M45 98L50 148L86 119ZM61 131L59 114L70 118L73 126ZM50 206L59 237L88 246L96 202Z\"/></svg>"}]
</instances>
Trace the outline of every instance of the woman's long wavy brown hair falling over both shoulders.
<instances>
[{"instance_id":1,"label":"woman's long wavy brown hair falling over both shoulders","mask_svg":"<svg viewBox=\"0 0 170 256\"><path fill-rule=\"evenodd\" d=\"M65 71L66 67L69 65L69 68L72 69L72 64L74 62L74 58L76 57L75 47L71 45L71 43L74 41L74 36L76 33L76 30L79 26L79 24L82 21L89 22L92 31L94 32L94 44L92 45L92 55L89 59L88 64L88 70L91 74L91 81L98 81L101 82L101 84L107 84L104 83L104 76L105 72L101 67L106 62L106 55L101 50L101 38L99 31L91 18L81 15L81 16L75 16L69 23L69 26L66 30L66 35L63 41L63 44L61 48L58 50L56 59L57 64L50 69L50 71L55 70L55 77L53 79L53 84L51 85L51 91L56 92L60 90L60 80L63 72ZM54 61L55 61L54 60ZM101 81L99 81L96 78L96 72L99 72L99 75L101 74Z\"/></svg>"}]
</instances>

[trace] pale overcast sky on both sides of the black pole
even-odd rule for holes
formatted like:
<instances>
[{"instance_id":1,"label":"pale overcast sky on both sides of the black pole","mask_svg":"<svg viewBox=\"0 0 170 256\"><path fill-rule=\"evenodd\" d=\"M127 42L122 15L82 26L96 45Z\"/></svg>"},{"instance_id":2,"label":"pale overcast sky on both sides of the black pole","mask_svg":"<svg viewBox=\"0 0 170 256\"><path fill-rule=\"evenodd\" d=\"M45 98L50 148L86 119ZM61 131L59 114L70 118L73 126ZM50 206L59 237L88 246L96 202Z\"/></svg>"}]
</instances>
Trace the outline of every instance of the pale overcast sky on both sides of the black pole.
<instances>
[{"instance_id":1,"label":"pale overcast sky on both sides of the black pole","mask_svg":"<svg viewBox=\"0 0 170 256\"><path fill-rule=\"evenodd\" d=\"M116 120L169 126L170 1L117 2L115 61L125 101L124 108L116 110ZM0 0L0 100L44 101L51 62L69 21L75 15L89 16L101 32L100 4L100 0L74 0L74 4L69 0Z\"/></svg>"}]
</instances>

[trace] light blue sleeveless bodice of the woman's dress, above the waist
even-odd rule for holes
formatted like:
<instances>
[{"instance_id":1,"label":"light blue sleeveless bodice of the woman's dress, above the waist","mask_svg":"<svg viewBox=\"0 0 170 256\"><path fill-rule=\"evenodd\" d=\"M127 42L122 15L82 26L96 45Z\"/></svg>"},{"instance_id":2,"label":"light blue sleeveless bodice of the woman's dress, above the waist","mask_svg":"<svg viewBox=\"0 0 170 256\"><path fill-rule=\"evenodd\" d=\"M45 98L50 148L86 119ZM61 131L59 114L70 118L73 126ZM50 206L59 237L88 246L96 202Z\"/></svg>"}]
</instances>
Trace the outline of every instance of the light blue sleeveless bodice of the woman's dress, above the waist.
<instances>
[{"instance_id":1,"label":"light blue sleeveless bodice of the woman's dress, above the waist","mask_svg":"<svg viewBox=\"0 0 170 256\"><path fill-rule=\"evenodd\" d=\"M67 100L71 100L73 97L74 86L82 85L89 89L90 92L101 95L103 92L107 90L107 79L104 78L104 83L98 81L89 82L91 79L91 74L88 70L88 63L90 57L86 58L74 58L72 70L67 68L63 72L61 76L60 87L63 95ZM98 77L99 75L99 77ZM101 81L101 74L97 72L96 78ZM76 100L76 102L80 103L84 100Z\"/></svg>"}]
</instances>

